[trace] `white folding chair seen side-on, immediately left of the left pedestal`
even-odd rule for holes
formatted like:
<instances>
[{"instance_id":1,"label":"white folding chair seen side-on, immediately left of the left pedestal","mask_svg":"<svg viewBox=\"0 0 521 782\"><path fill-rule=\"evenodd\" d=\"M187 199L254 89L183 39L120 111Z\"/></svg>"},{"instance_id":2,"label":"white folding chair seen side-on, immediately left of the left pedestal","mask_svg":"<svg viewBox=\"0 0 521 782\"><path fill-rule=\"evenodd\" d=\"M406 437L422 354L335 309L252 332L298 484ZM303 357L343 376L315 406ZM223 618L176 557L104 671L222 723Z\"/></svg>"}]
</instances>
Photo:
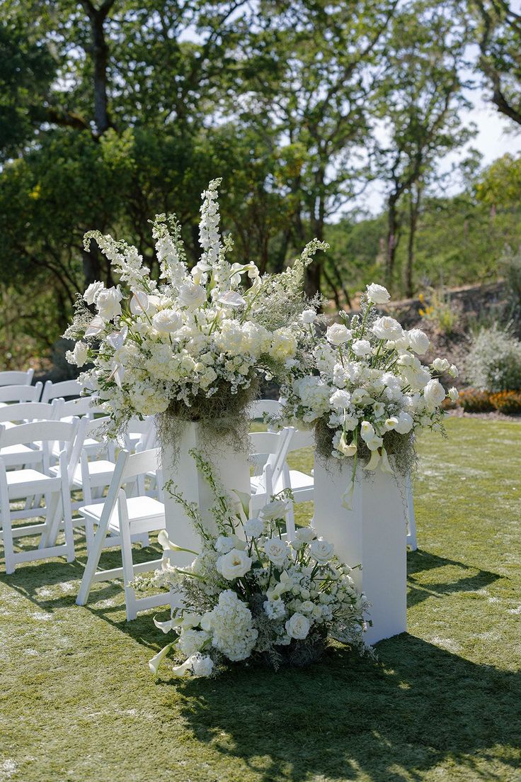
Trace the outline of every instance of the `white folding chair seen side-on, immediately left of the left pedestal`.
<instances>
[{"instance_id":1,"label":"white folding chair seen side-on, immediately left of the left pedestal","mask_svg":"<svg viewBox=\"0 0 521 782\"><path fill-rule=\"evenodd\" d=\"M159 448L129 454L122 450L116 462L109 492L103 505L87 505L80 508L85 524L97 525L94 543L87 558L84 576L81 579L77 604L85 605L92 584L97 581L110 581L123 577L125 587L125 603L127 606L127 621L136 619L138 611L156 608L159 605L170 604L170 595L155 594L150 597L136 597L130 583L137 573L155 570L161 566L161 559L141 562L134 565L132 559L132 536L141 533L159 532L165 529L165 506L153 497L140 496L127 498L123 486L135 482L137 475L143 475L157 469L159 464ZM107 540L107 535L113 537ZM99 558L106 543L121 546L122 567L110 570L98 570Z\"/></svg>"}]
</instances>

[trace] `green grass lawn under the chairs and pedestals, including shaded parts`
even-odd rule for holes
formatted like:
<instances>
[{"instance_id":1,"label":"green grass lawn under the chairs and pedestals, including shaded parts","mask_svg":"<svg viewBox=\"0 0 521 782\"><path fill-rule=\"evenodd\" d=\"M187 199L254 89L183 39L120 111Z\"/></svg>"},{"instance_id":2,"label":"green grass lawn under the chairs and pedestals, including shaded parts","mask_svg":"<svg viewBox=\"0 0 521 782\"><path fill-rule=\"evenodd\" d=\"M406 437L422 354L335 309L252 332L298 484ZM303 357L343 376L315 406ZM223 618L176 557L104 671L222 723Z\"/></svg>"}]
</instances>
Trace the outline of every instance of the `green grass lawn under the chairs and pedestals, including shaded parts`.
<instances>
[{"instance_id":1,"label":"green grass lawn under the chairs and pedestals, including shaded parts","mask_svg":"<svg viewBox=\"0 0 521 782\"><path fill-rule=\"evenodd\" d=\"M119 584L75 605L81 543L2 575L0 780L521 780L521 426L447 429L420 443L409 632L379 662L331 647L309 669L156 682L165 637L127 624Z\"/></svg>"}]
</instances>

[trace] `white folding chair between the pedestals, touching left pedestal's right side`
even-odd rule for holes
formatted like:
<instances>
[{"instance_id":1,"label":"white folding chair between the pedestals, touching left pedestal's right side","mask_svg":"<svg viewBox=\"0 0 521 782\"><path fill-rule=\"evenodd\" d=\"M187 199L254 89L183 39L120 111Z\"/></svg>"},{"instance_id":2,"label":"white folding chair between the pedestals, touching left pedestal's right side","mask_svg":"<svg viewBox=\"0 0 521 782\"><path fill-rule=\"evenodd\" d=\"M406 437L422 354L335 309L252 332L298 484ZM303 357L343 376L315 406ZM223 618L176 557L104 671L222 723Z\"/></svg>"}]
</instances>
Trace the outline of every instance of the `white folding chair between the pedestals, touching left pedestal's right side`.
<instances>
[{"instance_id":1,"label":"white folding chair between the pedestals, touching left pedestal's right side","mask_svg":"<svg viewBox=\"0 0 521 782\"><path fill-rule=\"evenodd\" d=\"M254 475L250 480L252 497L250 500L250 515L255 516L268 503L273 494L277 493L277 483L280 482L287 452L294 436L291 426L284 427L280 432L251 432L250 458L254 465ZM286 513L287 537L294 538L293 504L287 502Z\"/></svg>"}]
</instances>

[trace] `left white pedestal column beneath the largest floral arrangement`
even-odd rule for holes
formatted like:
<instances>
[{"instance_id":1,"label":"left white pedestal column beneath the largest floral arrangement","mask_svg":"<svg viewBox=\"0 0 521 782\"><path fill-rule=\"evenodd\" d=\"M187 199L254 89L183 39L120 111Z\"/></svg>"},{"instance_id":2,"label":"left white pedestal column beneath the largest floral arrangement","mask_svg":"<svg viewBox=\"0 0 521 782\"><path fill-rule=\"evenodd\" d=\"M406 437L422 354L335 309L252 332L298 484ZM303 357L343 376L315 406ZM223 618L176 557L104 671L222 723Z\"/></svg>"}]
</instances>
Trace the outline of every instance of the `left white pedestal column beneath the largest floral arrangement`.
<instances>
[{"instance_id":1,"label":"left white pedestal column beneath the largest floral arrangement","mask_svg":"<svg viewBox=\"0 0 521 782\"><path fill-rule=\"evenodd\" d=\"M198 423L185 425L176 459L173 458L171 447L163 447L163 481L165 484L172 481L173 486L177 486L177 490L183 494L187 502L197 503L205 526L215 533L216 523L210 513L210 508L215 505L215 498L204 476L195 466L194 459L189 453L191 448L202 450L205 458L212 464L216 479L227 490L250 493L250 465L248 454L237 453L226 442L218 440L215 445L209 445L208 439L201 439L199 426ZM165 490L165 512L166 531L170 540L178 546L200 551L201 543L191 519L187 517L184 508L171 497L168 490ZM175 559L177 563L185 565L192 561L193 555L176 554Z\"/></svg>"}]
</instances>

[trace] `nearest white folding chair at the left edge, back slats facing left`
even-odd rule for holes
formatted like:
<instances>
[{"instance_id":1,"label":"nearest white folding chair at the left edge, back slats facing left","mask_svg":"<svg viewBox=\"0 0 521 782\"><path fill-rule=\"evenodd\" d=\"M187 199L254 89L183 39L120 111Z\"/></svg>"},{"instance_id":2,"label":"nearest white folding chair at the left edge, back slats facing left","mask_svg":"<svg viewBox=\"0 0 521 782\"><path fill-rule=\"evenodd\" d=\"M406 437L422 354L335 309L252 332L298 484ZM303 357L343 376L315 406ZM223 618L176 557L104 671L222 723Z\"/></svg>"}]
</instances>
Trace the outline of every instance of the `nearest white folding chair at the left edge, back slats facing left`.
<instances>
[{"instance_id":1,"label":"nearest white folding chair at the left edge, back slats facing left","mask_svg":"<svg viewBox=\"0 0 521 782\"><path fill-rule=\"evenodd\" d=\"M26 443L52 443L59 440L63 450L59 456L59 474L46 475L35 469L10 470L0 458L0 519L2 521L2 538L5 551L5 570L15 572L16 565L21 562L47 559L65 555L67 561L74 559L73 527L70 511L70 490L68 463L76 438L78 421L34 421L30 424L20 424L12 429L0 425L0 448L18 446ZM12 511L11 502L32 497L35 494L45 496L45 508L32 508L30 511ZM61 508L60 508L61 502ZM60 514L60 510L62 514ZM19 515L20 513L25 515ZM65 529L65 543L56 544L59 533L61 515ZM12 526L13 518L45 517L45 522L37 524ZM13 539L15 537L37 535L42 533L37 550L15 552Z\"/></svg>"}]
</instances>

